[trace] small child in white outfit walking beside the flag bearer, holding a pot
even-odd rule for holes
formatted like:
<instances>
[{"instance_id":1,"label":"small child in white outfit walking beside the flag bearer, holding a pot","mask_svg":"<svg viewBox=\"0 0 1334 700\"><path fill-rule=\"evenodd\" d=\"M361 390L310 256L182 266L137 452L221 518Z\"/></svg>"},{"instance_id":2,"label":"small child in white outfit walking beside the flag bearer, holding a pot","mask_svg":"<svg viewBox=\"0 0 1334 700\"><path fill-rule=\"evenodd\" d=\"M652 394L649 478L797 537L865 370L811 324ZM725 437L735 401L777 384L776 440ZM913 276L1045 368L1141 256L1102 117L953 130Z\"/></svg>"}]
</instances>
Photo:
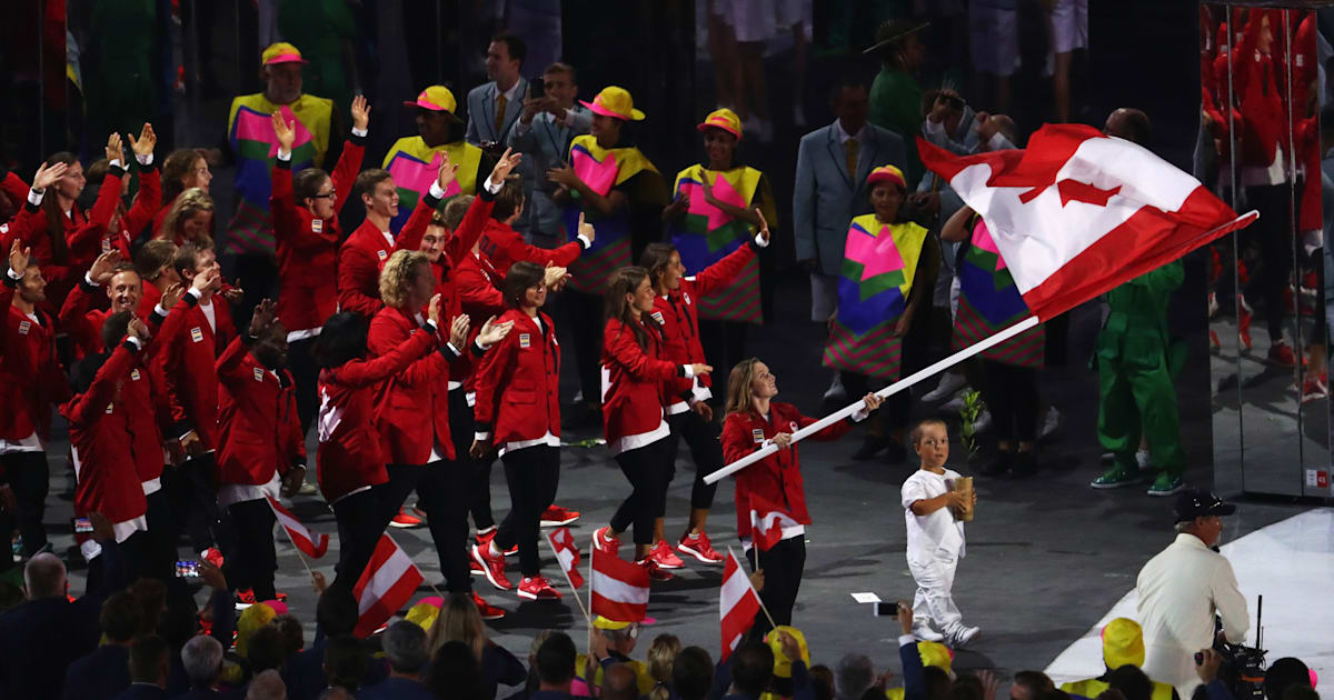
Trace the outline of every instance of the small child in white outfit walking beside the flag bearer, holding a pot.
<instances>
[{"instance_id":1,"label":"small child in white outfit walking beside the flag bearer, holding a pot","mask_svg":"<svg viewBox=\"0 0 1334 700\"><path fill-rule=\"evenodd\" d=\"M900 489L908 536L908 571L918 584L912 600L912 633L926 641L943 641L959 648L982 632L963 624L951 596L954 571L964 555L963 523L956 517L964 507L964 497L954 491L954 480L960 475L944 467L950 459L950 433L944 421L927 419L918 423L910 441L922 457L922 468L907 477Z\"/></svg>"}]
</instances>

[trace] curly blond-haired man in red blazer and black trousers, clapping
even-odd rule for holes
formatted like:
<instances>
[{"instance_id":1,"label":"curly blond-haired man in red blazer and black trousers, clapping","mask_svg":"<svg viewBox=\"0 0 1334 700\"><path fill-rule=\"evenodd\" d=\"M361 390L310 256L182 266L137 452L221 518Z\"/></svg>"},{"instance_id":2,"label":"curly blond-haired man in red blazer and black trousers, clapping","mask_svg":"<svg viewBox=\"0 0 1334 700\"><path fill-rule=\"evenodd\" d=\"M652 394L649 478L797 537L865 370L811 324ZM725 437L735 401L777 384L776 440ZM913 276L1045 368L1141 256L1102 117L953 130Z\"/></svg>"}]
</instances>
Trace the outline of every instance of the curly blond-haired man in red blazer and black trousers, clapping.
<instances>
[{"instance_id":1,"label":"curly blond-haired man in red blazer and black trousers, clapping","mask_svg":"<svg viewBox=\"0 0 1334 700\"><path fill-rule=\"evenodd\" d=\"M474 240L478 229L480 227L471 233ZM472 240L460 239L460 243L471 247ZM371 320L367 341L372 357L392 352L422 325L422 312L432 295L440 297L442 313L450 305L458 308L452 284L446 285L455 296L452 304L436 292L439 287L439 277L426 253L398 251L390 256L380 273L380 299L386 307ZM416 489L451 593L472 592L468 557L463 549L468 537L470 475L464 465L456 463L450 436L451 384L462 387L470 367L468 355L483 355L508 331L508 327L496 328L487 321L476 341L467 345L468 325L468 317L462 312L454 316L451 331L462 333L462 341L451 341L440 352L412 361L376 389L378 424L388 473L388 480L374 489L384 509L383 525L390 524L408 493ZM479 608L490 608L480 599L476 603ZM492 617L503 615L496 609L487 612Z\"/></svg>"}]
</instances>

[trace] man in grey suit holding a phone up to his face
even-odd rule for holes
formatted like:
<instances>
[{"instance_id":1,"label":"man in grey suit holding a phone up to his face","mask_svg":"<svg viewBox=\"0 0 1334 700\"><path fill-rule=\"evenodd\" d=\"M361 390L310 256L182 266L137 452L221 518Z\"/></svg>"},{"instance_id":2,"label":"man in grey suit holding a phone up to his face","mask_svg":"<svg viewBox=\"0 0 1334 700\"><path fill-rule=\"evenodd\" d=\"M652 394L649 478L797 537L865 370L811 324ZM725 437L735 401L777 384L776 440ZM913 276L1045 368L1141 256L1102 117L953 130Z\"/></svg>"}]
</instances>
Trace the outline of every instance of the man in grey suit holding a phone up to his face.
<instances>
[{"instance_id":1,"label":"man in grey suit holding a phone up to his face","mask_svg":"<svg viewBox=\"0 0 1334 700\"><path fill-rule=\"evenodd\" d=\"M551 201L556 184L547 179L547 169L559 167L570 157L570 141L588 133L592 112L575 103L579 84L575 69L554 63L542 73L543 95L524 100L519 123L510 129L510 148L523 153L536 173L532 195L528 197L528 243L540 248L556 248L566 243L560 209Z\"/></svg>"}]
</instances>

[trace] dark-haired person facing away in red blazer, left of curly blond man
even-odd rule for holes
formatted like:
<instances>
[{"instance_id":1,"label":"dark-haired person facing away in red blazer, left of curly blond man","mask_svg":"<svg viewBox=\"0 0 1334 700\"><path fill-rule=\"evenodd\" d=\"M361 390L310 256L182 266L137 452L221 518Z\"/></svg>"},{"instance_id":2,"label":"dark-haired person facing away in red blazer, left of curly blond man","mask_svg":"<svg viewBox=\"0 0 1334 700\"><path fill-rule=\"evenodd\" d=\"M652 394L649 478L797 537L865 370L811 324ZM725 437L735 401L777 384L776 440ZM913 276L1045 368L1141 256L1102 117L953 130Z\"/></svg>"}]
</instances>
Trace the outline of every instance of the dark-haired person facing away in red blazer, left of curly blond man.
<instances>
[{"instance_id":1,"label":"dark-haired person facing away in red blazer, left of curly blond man","mask_svg":"<svg viewBox=\"0 0 1334 700\"><path fill-rule=\"evenodd\" d=\"M376 387L408 364L439 349L440 297L427 305L427 320L392 352L366 357L367 321L360 313L339 312L324 323L315 343L320 365L319 481L338 520L338 576L351 589L375 543L384 532L382 508L371 487L390 480L380 433L375 429ZM462 333L451 343L463 344Z\"/></svg>"}]
</instances>

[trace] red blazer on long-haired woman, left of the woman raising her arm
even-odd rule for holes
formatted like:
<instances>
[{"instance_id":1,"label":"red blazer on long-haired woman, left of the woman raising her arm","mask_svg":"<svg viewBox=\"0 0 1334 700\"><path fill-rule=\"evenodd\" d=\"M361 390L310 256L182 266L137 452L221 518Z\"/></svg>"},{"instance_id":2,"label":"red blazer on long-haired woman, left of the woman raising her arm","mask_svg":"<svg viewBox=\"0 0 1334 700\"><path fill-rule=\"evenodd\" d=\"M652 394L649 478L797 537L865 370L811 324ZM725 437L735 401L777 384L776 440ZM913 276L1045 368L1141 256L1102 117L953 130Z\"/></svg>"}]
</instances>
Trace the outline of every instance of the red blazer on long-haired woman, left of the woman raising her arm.
<instances>
[{"instance_id":1,"label":"red blazer on long-haired woman, left of the woman raising her arm","mask_svg":"<svg viewBox=\"0 0 1334 700\"><path fill-rule=\"evenodd\" d=\"M662 331L644 324L648 348L620 319L602 332L602 425L612 455L644 447L670 435L663 420L667 383L686 376L682 365L662 357ZM514 331L511 331L514 333Z\"/></svg>"}]
</instances>

